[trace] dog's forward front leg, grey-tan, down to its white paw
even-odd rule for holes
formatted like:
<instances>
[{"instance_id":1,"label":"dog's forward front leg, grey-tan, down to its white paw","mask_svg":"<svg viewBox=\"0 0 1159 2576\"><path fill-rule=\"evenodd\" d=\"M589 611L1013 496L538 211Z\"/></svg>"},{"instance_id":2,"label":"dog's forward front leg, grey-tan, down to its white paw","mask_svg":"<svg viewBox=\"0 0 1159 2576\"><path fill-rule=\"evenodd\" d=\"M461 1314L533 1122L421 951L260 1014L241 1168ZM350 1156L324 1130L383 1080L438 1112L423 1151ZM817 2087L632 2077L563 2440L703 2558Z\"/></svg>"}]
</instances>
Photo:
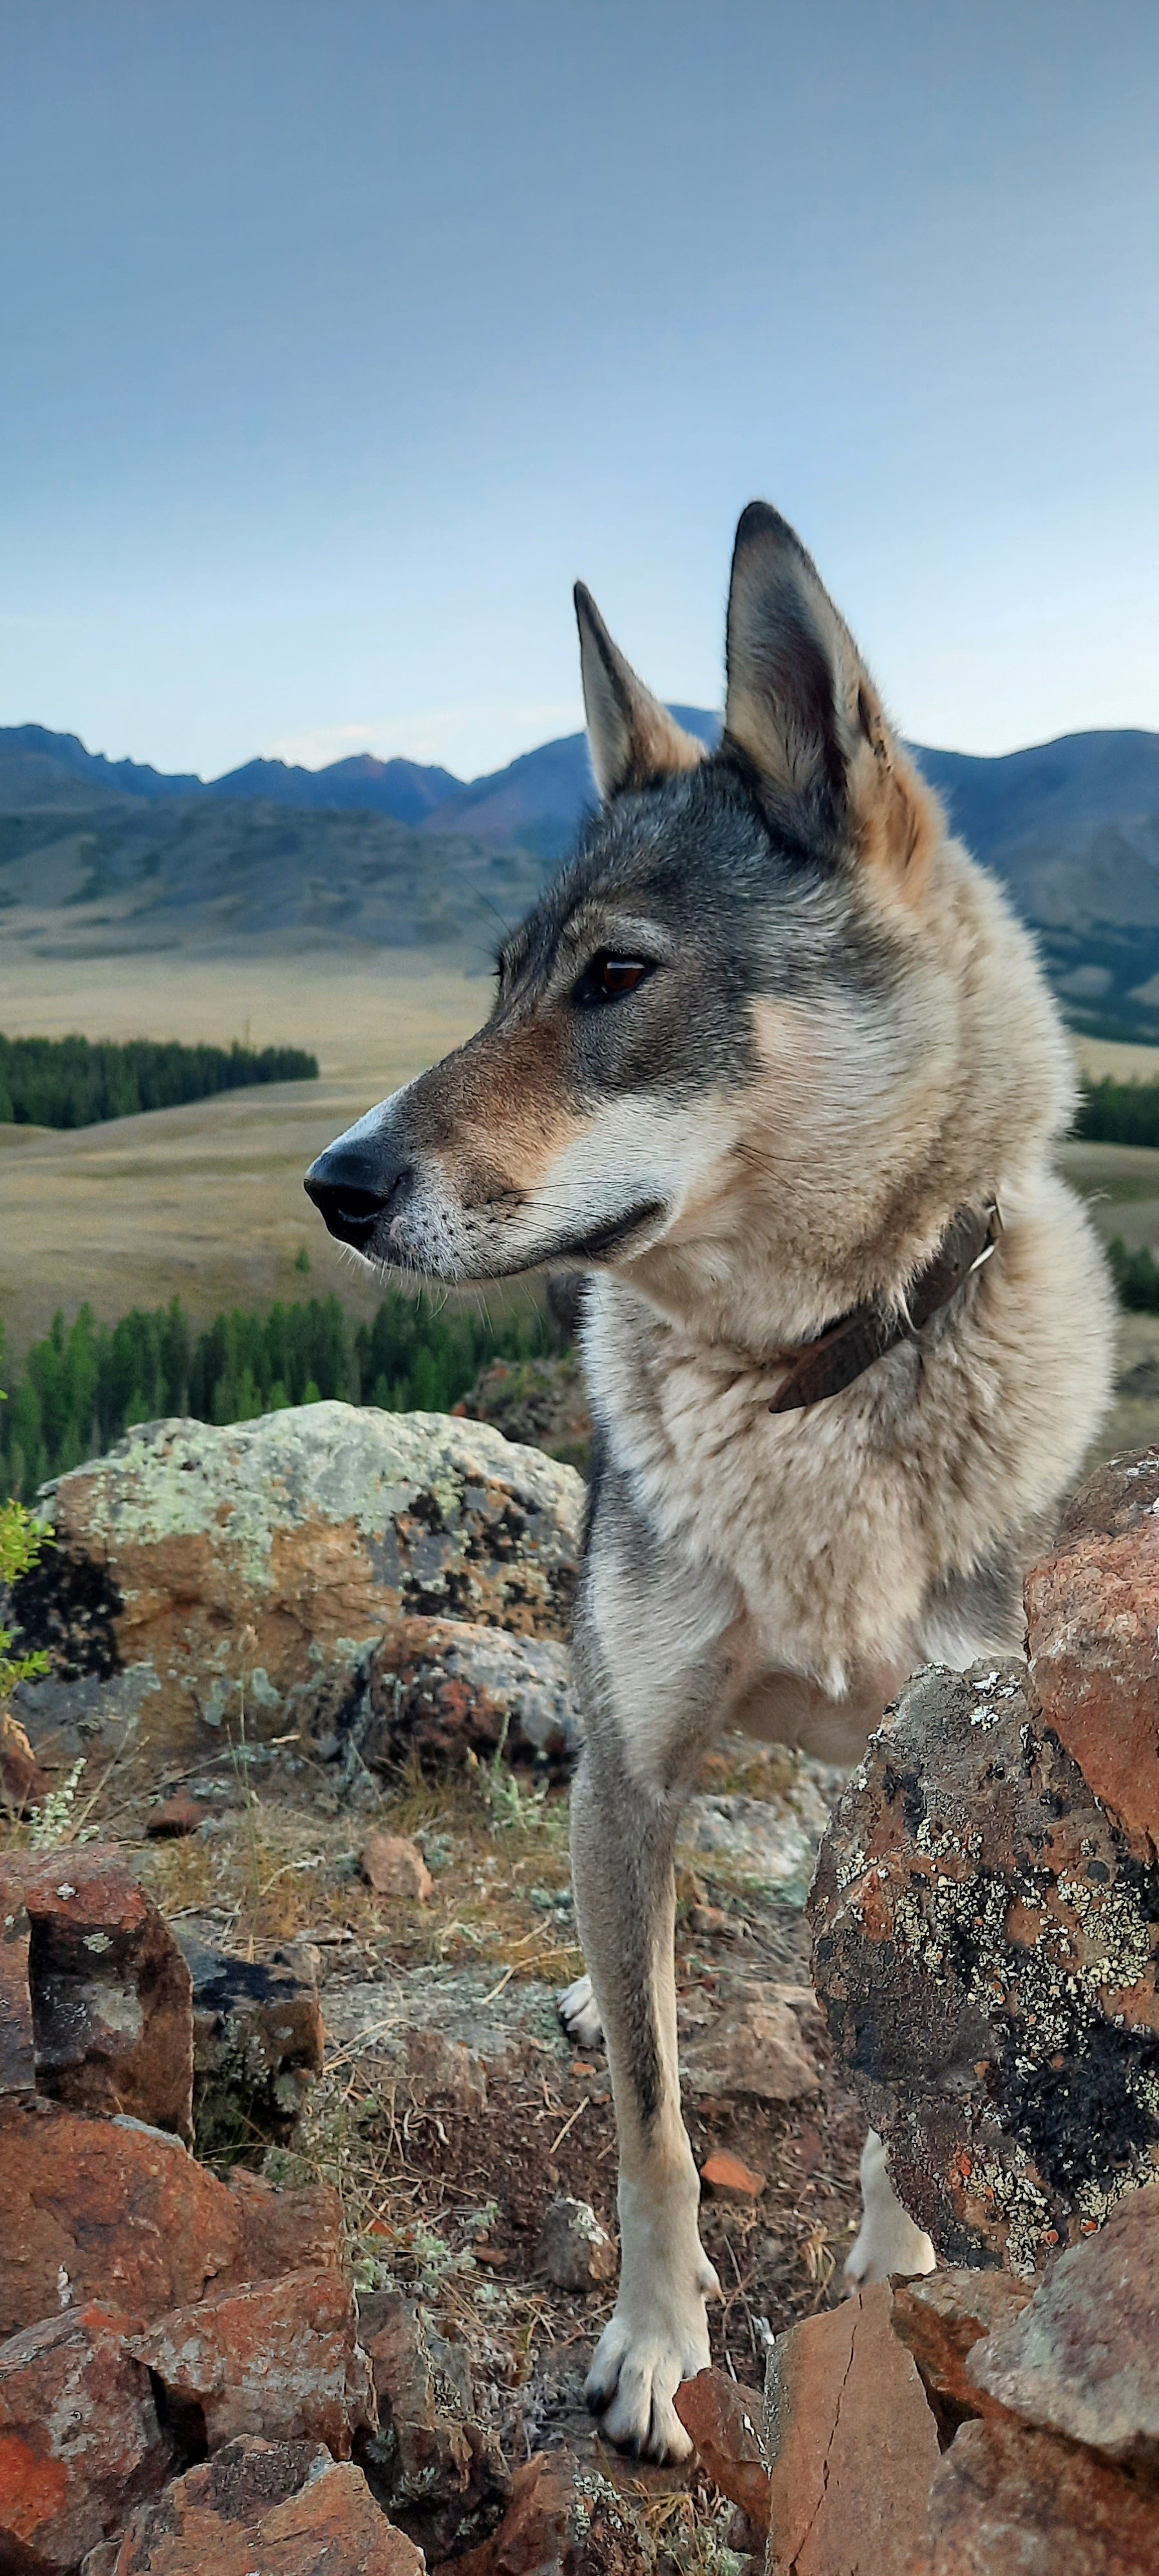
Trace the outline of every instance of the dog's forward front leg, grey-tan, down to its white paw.
<instances>
[{"instance_id":1,"label":"dog's forward front leg, grey-tan, down to its white paw","mask_svg":"<svg viewBox=\"0 0 1159 2576\"><path fill-rule=\"evenodd\" d=\"M587 1747L572 1790L572 1873L585 1960L608 2043L621 2141L621 2290L587 2378L605 2432L649 2460L683 2460L680 2380L708 2365L716 2272L698 2233L701 2182L680 2117L675 2032L677 1801Z\"/></svg>"}]
</instances>

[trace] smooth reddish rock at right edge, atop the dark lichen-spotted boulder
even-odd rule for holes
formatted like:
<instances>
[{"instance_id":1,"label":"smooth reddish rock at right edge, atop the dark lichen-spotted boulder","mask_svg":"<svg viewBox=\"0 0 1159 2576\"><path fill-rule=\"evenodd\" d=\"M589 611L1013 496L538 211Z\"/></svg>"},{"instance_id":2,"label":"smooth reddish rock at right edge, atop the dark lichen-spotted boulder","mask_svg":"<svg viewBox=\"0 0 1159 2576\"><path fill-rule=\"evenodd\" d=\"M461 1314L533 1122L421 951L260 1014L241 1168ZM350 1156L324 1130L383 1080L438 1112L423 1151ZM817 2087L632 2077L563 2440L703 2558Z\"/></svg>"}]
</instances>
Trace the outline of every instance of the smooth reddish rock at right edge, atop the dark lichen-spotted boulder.
<instances>
[{"instance_id":1,"label":"smooth reddish rock at right edge, atop the dark lichen-spotted boulder","mask_svg":"<svg viewBox=\"0 0 1159 2576\"><path fill-rule=\"evenodd\" d=\"M1110 1458L1025 1582L1030 1690L1138 1860L1159 1857L1159 1450Z\"/></svg>"}]
</instances>

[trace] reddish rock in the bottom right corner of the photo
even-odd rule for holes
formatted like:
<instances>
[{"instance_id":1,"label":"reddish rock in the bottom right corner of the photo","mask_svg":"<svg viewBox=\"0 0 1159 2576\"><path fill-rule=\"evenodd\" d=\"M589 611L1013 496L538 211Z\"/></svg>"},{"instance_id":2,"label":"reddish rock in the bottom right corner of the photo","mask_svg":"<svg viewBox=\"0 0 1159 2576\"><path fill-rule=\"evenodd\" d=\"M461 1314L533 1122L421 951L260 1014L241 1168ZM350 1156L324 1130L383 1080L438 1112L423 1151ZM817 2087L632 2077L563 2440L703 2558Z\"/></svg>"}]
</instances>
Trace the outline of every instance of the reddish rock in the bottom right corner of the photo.
<instances>
[{"instance_id":1,"label":"reddish rock in the bottom right corner of the photo","mask_svg":"<svg viewBox=\"0 0 1159 2576\"><path fill-rule=\"evenodd\" d=\"M909 2576L1007 2571L1159 2576L1159 2501L1048 2432L997 2419L963 2424L938 2463L930 2527Z\"/></svg>"}]
</instances>

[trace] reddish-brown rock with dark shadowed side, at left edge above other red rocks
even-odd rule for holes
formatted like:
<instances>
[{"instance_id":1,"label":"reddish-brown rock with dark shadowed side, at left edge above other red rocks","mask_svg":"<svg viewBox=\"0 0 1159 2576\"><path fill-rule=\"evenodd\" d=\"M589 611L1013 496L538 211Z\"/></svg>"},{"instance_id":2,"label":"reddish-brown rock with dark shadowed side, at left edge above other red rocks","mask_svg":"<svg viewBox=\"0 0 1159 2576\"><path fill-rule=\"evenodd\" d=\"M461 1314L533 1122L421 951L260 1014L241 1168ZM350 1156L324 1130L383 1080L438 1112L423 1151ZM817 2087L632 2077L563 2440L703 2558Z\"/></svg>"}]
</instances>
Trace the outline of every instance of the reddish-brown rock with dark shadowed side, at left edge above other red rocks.
<instances>
[{"instance_id":1,"label":"reddish-brown rock with dark shadowed side, at left edge above other red rocks","mask_svg":"<svg viewBox=\"0 0 1159 2576\"><path fill-rule=\"evenodd\" d=\"M36 2089L70 2110L191 2133L185 1960L113 1850L8 1852L0 1922L26 1906Z\"/></svg>"}]
</instances>

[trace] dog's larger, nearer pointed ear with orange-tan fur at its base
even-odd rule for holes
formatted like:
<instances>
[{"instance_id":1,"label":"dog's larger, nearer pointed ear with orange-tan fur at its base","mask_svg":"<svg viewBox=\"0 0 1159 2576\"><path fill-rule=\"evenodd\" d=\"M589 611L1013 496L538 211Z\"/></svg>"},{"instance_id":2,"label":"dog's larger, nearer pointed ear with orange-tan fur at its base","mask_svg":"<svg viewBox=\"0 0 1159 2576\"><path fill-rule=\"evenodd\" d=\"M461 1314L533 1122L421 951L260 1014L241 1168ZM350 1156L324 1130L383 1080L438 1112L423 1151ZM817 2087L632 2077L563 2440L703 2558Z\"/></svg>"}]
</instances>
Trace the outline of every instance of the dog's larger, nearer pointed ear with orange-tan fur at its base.
<instances>
[{"instance_id":1,"label":"dog's larger, nearer pointed ear with orange-tan fur at its base","mask_svg":"<svg viewBox=\"0 0 1159 2576\"><path fill-rule=\"evenodd\" d=\"M762 500L731 556L724 742L757 770L770 822L917 896L943 837L938 799L891 734L811 554Z\"/></svg>"}]
</instances>

